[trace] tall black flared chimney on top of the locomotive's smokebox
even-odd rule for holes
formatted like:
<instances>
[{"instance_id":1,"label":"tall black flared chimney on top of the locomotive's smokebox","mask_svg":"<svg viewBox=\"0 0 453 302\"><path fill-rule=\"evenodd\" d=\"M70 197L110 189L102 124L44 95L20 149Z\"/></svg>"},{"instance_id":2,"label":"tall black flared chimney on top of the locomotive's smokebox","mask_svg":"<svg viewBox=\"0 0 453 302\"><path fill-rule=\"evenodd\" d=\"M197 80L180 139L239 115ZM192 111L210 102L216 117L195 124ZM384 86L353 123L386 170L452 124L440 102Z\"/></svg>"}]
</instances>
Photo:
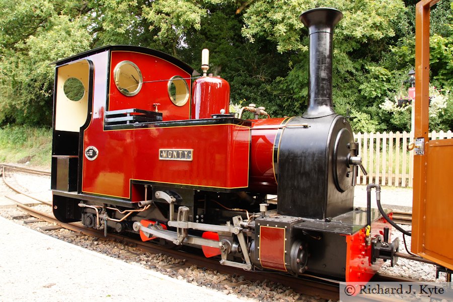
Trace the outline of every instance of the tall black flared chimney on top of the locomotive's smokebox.
<instances>
[{"instance_id":1,"label":"tall black flared chimney on top of the locomotive's smokebox","mask_svg":"<svg viewBox=\"0 0 453 302\"><path fill-rule=\"evenodd\" d=\"M302 13L300 21L309 29L309 106L305 118L335 114L332 107L332 36L343 13L317 8Z\"/></svg>"}]
</instances>

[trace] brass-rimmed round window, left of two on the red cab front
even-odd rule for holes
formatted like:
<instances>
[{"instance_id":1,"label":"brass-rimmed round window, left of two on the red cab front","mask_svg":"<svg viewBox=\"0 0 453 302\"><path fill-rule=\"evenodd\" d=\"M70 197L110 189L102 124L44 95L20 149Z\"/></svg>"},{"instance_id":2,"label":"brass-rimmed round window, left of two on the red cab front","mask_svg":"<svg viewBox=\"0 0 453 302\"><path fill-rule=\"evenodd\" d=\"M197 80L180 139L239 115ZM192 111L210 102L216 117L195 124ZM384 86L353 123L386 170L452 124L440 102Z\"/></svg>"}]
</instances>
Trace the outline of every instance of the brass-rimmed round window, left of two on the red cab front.
<instances>
[{"instance_id":1,"label":"brass-rimmed round window, left of two on the red cab front","mask_svg":"<svg viewBox=\"0 0 453 302\"><path fill-rule=\"evenodd\" d=\"M131 97L140 92L143 77L137 65L131 61L121 61L113 69L113 77L118 90Z\"/></svg>"}]
</instances>

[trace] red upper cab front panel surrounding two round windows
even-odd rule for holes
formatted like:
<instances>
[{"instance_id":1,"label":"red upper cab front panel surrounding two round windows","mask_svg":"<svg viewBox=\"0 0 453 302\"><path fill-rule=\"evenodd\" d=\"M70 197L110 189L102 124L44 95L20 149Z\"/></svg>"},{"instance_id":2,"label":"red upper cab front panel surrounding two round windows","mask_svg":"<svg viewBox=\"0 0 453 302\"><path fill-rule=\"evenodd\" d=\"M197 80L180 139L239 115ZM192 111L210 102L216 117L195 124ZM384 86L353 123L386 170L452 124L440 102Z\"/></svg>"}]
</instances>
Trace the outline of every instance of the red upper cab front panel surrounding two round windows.
<instances>
[{"instance_id":1,"label":"red upper cab front panel surrounding two round windows","mask_svg":"<svg viewBox=\"0 0 453 302\"><path fill-rule=\"evenodd\" d=\"M158 109L159 112L162 112L164 121L189 119L190 98L184 106L174 105L168 95L168 81L143 83L137 95L132 97L123 95L115 85L113 70L116 64L124 60L131 61L140 68L143 82L169 80L174 75L181 75L183 78L191 77L191 74L159 57L132 51L112 51L109 71L109 95L107 97L108 110L138 108L155 111L156 108L153 104L160 103ZM185 81L189 87L190 94L191 81ZM95 85L98 84L95 82Z\"/></svg>"}]
</instances>

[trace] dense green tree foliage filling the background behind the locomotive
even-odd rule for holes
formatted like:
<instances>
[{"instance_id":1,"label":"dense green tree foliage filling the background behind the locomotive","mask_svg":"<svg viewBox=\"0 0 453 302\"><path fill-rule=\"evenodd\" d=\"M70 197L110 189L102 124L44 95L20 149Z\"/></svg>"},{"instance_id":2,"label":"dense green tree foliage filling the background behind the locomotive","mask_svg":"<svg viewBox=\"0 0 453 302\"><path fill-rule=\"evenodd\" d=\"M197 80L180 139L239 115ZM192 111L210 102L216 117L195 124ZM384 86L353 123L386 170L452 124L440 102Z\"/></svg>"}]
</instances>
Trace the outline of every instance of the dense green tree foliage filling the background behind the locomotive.
<instances>
[{"instance_id":1,"label":"dense green tree foliage filling the background behind the locomotive","mask_svg":"<svg viewBox=\"0 0 453 302\"><path fill-rule=\"evenodd\" d=\"M209 48L210 72L230 82L234 104L301 114L308 37L298 16L323 6L344 14L334 36L336 111L354 116L357 131L409 130L410 109L389 102L407 93L414 67L412 0L3 0L0 124L50 125L49 63L107 44L155 48L196 68ZM431 13L432 130L453 128L452 9L441 0Z\"/></svg>"}]
</instances>

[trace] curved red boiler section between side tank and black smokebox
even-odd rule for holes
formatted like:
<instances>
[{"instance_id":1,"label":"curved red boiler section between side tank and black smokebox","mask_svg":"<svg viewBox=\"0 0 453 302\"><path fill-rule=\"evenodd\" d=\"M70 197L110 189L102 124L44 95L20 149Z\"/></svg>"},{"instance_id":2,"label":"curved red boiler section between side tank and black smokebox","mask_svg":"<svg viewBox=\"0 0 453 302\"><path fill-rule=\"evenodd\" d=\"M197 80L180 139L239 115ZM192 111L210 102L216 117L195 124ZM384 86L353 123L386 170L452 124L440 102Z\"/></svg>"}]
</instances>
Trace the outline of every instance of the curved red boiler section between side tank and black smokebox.
<instances>
[{"instance_id":1,"label":"curved red boiler section between side tank and black smokebox","mask_svg":"<svg viewBox=\"0 0 453 302\"><path fill-rule=\"evenodd\" d=\"M283 120L284 118L267 118L253 121L249 184L253 191L277 194L274 142Z\"/></svg>"}]
</instances>

